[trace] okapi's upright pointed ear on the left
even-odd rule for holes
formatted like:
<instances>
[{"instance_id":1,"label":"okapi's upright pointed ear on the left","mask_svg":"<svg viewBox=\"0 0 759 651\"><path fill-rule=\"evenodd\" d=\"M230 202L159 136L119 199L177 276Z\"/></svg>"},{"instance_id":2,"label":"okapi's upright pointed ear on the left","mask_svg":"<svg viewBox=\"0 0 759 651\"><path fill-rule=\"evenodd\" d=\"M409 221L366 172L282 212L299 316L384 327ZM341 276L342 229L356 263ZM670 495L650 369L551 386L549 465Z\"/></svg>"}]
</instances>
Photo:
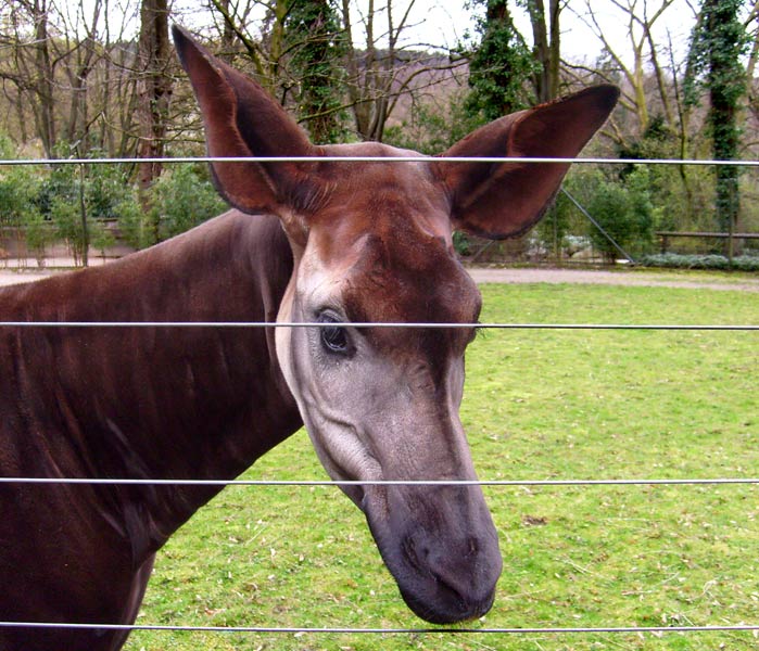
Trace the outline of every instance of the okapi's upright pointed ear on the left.
<instances>
[{"instance_id":1,"label":"okapi's upright pointed ear on the left","mask_svg":"<svg viewBox=\"0 0 759 651\"><path fill-rule=\"evenodd\" d=\"M309 156L318 151L258 84L213 56L181 27L174 25L172 31L200 104L210 156ZM292 220L287 208L299 203L296 196L313 194L308 184L316 183L293 163L212 163L212 169L217 190L232 206L273 213L283 221ZM284 227L289 234L306 228Z\"/></svg>"}]
</instances>

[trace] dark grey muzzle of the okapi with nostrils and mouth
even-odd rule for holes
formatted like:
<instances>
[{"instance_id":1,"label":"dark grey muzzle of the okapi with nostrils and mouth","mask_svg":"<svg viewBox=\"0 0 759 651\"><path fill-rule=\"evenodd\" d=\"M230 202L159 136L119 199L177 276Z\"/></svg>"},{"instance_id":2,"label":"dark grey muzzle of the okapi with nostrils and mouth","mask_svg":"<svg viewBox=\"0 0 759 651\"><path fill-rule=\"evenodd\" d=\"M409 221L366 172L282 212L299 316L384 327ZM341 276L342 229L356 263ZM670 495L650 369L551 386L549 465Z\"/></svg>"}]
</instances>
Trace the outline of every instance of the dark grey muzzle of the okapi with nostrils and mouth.
<instances>
[{"instance_id":1,"label":"dark grey muzzle of the okapi with nostrils and mouth","mask_svg":"<svg viewBox=\"0 0 759 651\"><path fill-rule=\"evenodd\" d=\"M415 487L415 492L425 488L428 493L441 490L421 486ZM406 487L404 492L408 490ZM481 496L479 487L445 487L442 492L444 497L439 505L442 508L426 500L416 516L395 510L376 518L370 506L374 500L367 499L364 506L368 508L364 512L382 560L408 608L431 624L454 624L481 617L490 611L503 561L484 500L471 499ZM473 496L460 497L464 493ZM451 509L452 503L473 506L475 513L459 513L451 519L458 510Z\"/></svg>"}]
</instances>

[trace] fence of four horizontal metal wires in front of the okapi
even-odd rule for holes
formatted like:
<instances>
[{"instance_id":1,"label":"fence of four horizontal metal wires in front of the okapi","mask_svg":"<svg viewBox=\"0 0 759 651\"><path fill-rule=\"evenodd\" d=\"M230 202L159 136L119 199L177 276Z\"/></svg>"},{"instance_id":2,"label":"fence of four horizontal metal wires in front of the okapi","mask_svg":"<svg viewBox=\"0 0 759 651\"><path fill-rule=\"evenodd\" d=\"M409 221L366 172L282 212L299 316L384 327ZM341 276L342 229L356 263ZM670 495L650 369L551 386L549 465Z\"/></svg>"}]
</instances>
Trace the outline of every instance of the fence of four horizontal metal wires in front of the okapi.
<instances>
[{"instance_id":1,"label":"fence of four horizontal metal wires in front of the okapi","mask_svg":"<svg viewBox=\"0 0 759 651\"><path fill-rule=\"evenodd\" d=\"M606 164L606 165L693 165L719 166L732 165L739 167L759 167L759 161L713 161L713 159L628 159L628 158L446 158L446 157L375 157L375 156L325 156L315 161L313 157L174 157L174 158L55 158L55 159L18 159L0 161L1 166L16 165L114 165L136 162L167 163L419 163L434 161L435 163L526 163L526 164ZM709 323L407 323L407 322L182 322L182 321L0 321L0 329L8 328L214 328L214 329L248 329L248 328L408 328L408 329L495 329L495 330L557 330L557 331L712 331L712 332L757 332L759 324L709 324ZM593 487L593 486L730 486L757 485L759 477L684 477L684 478L545 478L545 480L481 480L481 481L332 481L332 480L193 480L193 478L87 478L87 477L0 477L3 485L176 485L176 486L368 486L368 485L414 485L414 486L495 486L495 487ZM698 634L698 633L756 633L759 624L724 624L724 625L662 625L662 626L600 626L600 627L276 627L276 626L187 626L187 625L152 625L136 623L101 624L101 623L58 623L58 622L9 622L0 621L0 628L35 628L35 629L98 629L101 631L187 631L214 634L322 634L322 635L587 635L587 634Z\"/></svg>"}]
</instances>

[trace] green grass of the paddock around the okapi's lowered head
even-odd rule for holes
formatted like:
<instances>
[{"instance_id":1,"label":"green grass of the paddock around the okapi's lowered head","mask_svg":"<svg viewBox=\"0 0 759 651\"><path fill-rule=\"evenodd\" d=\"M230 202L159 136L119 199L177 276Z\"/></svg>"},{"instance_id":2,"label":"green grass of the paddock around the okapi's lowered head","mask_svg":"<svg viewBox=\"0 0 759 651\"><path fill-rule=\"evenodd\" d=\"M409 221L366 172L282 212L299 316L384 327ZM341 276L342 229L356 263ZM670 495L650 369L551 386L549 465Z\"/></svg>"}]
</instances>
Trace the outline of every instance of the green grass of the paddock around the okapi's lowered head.
<instances>
[{"instance_id":1,"label":"green grass of the paddock around the okapi's lowered head","mask_svg":"<svg viewBox=\"0 0 759 651\"><path fill-rule=\"evenodd\" d=\"M486 285L482 321L759 323L759 294ZM485 331L461 410L482 478L759 475L759 333ZM251 478L324 478L301 432ZM486 487L496 603L476 626L759 624L759 489ZM159 557L140 623L426 626L332 487L230 487ZM136 633L127 649L755 649L751 633Z\"/></svg>"}]
</instances>

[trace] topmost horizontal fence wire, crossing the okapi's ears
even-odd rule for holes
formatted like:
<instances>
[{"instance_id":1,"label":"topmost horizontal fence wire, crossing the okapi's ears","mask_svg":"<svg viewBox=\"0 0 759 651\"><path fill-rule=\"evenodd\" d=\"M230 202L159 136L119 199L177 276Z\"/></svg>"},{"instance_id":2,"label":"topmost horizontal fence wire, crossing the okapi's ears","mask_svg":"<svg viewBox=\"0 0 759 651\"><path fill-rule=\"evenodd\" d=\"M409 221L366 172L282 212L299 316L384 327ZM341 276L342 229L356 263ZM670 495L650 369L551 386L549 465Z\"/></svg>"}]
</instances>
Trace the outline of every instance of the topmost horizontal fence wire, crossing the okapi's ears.
<instances>
[{"instance_id":1,"label":"topmost horizontal fence wire, crossing the okapi's ears","mask_svg":"<svg viewBox=\"0 0 759 651\"><path fill-rule=\"evenodd\" d=\"M593 165L713 165L759 167L759 161L713 158L565 158L549 156L176 156L147 158L18 158L1 159L3 165L126 165L134 163L528 163Z\"/></svg>"}]
</instances>

